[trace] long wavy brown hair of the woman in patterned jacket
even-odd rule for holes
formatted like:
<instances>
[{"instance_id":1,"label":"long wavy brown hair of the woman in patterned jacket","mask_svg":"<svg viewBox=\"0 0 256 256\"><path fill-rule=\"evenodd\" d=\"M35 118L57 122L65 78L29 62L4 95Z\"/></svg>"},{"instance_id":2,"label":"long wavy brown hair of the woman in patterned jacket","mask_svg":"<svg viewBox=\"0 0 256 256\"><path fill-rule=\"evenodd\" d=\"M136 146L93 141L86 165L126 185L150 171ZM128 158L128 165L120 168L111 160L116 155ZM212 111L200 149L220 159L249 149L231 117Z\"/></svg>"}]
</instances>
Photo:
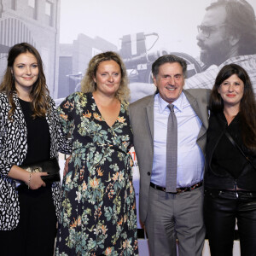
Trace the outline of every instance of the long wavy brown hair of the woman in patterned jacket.
<instances>
[{"instance_id":1,"label":"long wavy brown hair of the woman in patterned jacket","mask_svg":"<svg viewBox=\"0 0 256 256\"><path fill-rule=\"evenodd\" d=\"M45 117L45 114L49 110L49 90L47 88L44 76L43 61L38 53L38 50L35 49L31 44L15 44L11 49L9 49L7 68L3 76L3 81L0 84L0 92L6 93L11 106L9 110L9 119L11 119L13 113L15 113L16 108L14 102L14 94L16 93L15 78L12 70L17 56L26 52L29 52L35 56L38 61L39 71L38 79L35 84L33 84L32 91L30 93L30 98L32 99L32 117Z\"/></svg>"}]
</instances>

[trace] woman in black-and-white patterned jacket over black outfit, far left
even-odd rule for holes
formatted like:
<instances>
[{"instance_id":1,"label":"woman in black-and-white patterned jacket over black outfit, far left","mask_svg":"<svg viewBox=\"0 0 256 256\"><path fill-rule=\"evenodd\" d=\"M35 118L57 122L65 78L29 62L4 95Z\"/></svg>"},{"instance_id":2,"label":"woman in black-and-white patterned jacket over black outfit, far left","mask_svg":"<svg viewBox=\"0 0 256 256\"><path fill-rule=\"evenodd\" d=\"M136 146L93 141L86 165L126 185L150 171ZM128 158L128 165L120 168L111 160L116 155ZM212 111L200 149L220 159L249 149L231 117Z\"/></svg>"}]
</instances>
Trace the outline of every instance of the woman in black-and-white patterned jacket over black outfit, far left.
<instances>
[{"instance_id":1,"label":"woman in black-and-white patterned jacket over black outfit, far left","mask_svg":"<svg viewBox=\"0 0 256 256\"><path fill-rule=\"evenodd\" d=\"M60 184L44 182L49 168L31 173L22 166L49 165L59 149L69 153L70 145L32 45L15 44L9 50L0 106L0 254L52 256Z\"/></svg>"}]
</instances>

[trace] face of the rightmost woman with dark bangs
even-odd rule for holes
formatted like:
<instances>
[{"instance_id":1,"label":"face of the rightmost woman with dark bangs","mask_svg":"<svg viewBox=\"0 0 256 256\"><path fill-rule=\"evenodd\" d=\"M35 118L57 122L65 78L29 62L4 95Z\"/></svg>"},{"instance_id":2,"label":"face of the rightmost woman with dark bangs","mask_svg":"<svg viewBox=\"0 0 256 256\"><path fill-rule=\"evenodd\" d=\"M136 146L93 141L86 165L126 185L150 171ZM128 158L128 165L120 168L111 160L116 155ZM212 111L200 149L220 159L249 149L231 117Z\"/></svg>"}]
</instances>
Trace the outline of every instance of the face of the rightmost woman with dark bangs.
<instances>
[{"instance_id":1,"label":"face of the rightmost woman with dark bangs","mask_svg":"<svg viewBox=\"0 0 256 256\"><path fill-rule=\"evenodd\" d=\"M236 107L239 109L241 98L243 96L244 83L236 74L224 80L218 87L218 93L223 99L224 108Z\"/></svg>"}]
</instances>

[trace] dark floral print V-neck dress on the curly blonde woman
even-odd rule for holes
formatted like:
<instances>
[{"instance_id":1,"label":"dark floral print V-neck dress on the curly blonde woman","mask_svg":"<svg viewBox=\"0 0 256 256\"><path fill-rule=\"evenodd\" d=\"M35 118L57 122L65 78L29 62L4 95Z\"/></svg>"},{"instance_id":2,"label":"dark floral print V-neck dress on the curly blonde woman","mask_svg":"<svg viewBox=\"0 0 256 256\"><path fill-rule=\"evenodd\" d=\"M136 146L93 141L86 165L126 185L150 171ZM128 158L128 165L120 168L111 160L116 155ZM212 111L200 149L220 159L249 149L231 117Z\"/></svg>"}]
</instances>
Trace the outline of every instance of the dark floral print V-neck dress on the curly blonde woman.
<instances>
[{"instance_id":1,"label":"dark floral print V-neck dress on the curly blonde woman","mask_svg":"<svg viewBox=\"0 0 256 256\"><path fill-rule=\"evenodd\" d=\"M55 256L138 255L127 107L121 103L111 127L91 93L76 92L59 107L73 154L63 178Z\"/></svg>"}]
</instances>

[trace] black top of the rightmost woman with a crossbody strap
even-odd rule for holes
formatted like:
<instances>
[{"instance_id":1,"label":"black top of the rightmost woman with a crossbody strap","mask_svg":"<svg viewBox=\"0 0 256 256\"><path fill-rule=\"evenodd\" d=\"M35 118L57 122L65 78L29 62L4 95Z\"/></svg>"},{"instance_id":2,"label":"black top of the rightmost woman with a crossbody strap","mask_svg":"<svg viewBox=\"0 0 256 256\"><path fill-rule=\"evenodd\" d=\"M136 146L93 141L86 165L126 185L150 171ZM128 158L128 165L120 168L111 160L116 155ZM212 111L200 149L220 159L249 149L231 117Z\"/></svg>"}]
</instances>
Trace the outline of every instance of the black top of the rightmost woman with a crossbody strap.
<instances>
[{"instance_id":1,"label":"black top of the rightmost woman with a crossbody strap","mask_svg":"<svg viewBox=\"0 0 256 256\"><path fill-rule=\"evenodd\" d=\"M228 131L256 166L255 153L242 142L241 125L244 124L240 113L228 125L224 113L211 112L207 130L205 188L256 191L256 170L224 134L225 130Z\"/></svg>"}]
</instances>

